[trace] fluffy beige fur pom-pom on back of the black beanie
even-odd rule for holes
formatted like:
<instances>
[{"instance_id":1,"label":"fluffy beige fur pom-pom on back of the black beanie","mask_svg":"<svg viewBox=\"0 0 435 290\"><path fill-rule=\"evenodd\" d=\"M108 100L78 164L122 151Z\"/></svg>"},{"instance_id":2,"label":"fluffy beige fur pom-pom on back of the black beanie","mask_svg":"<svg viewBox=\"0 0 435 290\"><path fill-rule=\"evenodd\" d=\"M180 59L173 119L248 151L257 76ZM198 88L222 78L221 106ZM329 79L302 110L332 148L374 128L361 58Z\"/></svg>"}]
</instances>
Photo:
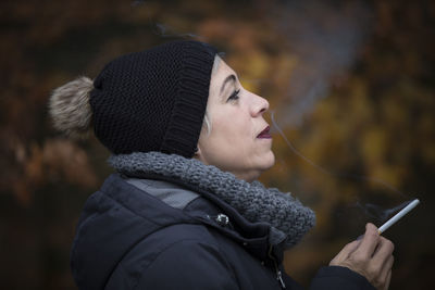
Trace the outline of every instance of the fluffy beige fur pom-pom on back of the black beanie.
<instances>
[{"instance_id":1,"label":"fluffy beige fur pom-pom on back of the black beanie","mask_svg":"<svg viewBox=\"0 0 435 290\"><path fill-rule=\"evenodd\" d=\"M53 90L49 112L58 130L73 138L88 136L92 119L89 92L92 89L92 80L83 76Z\"/></svg>"}]
</instances>

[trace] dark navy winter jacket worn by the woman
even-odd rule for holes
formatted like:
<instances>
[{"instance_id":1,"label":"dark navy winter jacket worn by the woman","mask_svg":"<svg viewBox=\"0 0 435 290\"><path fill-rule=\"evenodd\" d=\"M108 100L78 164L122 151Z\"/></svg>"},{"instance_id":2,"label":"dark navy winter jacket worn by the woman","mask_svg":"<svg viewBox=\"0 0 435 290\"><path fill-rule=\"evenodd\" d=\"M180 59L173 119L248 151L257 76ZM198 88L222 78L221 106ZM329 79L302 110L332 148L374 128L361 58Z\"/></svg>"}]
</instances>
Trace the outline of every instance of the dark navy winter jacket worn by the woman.
<instances>
[{"instance_id":1,"label":"dark navy winter jacket worn by the woman","mask_svg":"<svg viewBox=\"0 0 435 290\"><path fill-rule=\"evenodd\" d=\"M113 174L86 202L71 259L79 289L302 289L284 273L268 224L207 192L177 185L169 191L182 198L171 202L132 180ZM374 288L348 268L323 267L311 289Z\"/></svg>"}]
</instances>

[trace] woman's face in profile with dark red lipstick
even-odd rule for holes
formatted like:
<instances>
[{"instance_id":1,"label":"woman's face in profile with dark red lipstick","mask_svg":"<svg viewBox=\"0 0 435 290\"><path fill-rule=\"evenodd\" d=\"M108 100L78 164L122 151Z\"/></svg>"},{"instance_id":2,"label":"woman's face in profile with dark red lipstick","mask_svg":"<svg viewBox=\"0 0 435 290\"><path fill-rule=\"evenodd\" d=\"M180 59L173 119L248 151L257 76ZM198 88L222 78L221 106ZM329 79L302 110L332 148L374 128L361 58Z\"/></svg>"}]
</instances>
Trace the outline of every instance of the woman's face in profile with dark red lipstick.
<instances>
[{"instance_id":1,"label":"woman's face in profile with dark red lipstick","mask_svg":"<svg viewBox=\"0 0 435 290\"><path fill-rule=\"evenodd\" d=\"M252 181L272 167L275 156L263 113L269 102L244 89L222 60L210 80L207 111L211 131L201 131L196 157Z\"/></svg>"}]
</instances>

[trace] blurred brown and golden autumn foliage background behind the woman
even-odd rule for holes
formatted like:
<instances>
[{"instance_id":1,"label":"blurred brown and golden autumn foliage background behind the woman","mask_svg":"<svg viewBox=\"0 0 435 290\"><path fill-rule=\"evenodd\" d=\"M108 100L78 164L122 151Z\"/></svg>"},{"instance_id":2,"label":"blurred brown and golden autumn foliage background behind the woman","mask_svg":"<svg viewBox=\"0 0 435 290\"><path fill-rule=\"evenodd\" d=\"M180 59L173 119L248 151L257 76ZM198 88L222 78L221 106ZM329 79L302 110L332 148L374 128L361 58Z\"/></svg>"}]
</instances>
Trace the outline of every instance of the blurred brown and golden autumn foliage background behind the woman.
<instances>
[{"instance_id":1,"label":"blurred brown and golden autumn foliage background behind the woman","mask_svg":"<svg viewBox=\"0 0 435 290\"><path fill-rule=\"evenodd\" d=\"M54 88L174 39L219 48L271 103L276 165L261 181L318 224L286 253L304 286L372 222L414 198L385 232L390 289L434 289L435 2L1 1L0 287L76 289L69 255L85 200L112 171L95 138L52 129Z\"/></svg>"}]
</instances>

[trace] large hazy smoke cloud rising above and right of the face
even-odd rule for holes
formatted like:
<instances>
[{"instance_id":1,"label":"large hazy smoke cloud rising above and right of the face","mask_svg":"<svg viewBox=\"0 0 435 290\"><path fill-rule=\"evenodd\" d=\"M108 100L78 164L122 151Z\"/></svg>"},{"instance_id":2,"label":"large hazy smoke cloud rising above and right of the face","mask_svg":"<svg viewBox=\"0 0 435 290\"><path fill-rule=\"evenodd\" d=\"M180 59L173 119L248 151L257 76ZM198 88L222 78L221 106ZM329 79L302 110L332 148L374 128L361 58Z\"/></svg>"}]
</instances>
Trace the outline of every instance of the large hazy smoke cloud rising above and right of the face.
<instances>
[{"instance_id":1,"label":"large hazy smoke cloud rising above and right of the face","mask_svg":"<svg viewBox=\"0 0 435 290\"><path fill-rule=\"evenodd\" d=\"M291 72L286 103L278 112L282 125L301 125L315 103L328 94L334 77L345 75L370 35L370 9L362 2L288 1L275 12L298 64ZM328 3L330 2L330 3Z\"/></svg>"}]
</instances>

